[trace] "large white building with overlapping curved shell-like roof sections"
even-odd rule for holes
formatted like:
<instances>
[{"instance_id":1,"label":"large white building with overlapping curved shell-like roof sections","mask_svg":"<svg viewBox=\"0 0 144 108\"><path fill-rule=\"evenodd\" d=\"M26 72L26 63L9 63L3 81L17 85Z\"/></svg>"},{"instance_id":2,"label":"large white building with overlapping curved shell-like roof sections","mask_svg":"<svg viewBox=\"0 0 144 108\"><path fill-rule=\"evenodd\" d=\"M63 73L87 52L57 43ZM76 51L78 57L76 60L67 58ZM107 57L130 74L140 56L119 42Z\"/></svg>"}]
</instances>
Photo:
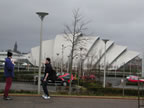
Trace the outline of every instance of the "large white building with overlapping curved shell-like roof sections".
<instances>
[{"instance_id":1,"label":"large white building with overlapping curved shell-like roof sections","mask_svg":"<svg viewBox=\"0 0 144 108\"><path fill-rule=\"evenodd\" d=\"M46 40L42 43L42 60L46 57L50 57L52 62L60 64L66 64L69 61L71 54L71 42L67 41L66 35L57 35L54 40ZM71 38L71 36L70 36ZM109 69L119 68L123 64L128 63L130 60L139 56L139 52L129 51L126 46L115 44L109 40L105 43L100 37L95 36L81 36L79 40L82 40L79 44L76 44L74 51L74 64L78 66L78 63L82 60L84 68L87 68L87 64L91 64L92 67L97 64L104 65L104 54L106 51L106 64ZM31 49L31 53L27 55L29 61L38 66L39 64L39 46Z\"/></svg>"}]
</instances>

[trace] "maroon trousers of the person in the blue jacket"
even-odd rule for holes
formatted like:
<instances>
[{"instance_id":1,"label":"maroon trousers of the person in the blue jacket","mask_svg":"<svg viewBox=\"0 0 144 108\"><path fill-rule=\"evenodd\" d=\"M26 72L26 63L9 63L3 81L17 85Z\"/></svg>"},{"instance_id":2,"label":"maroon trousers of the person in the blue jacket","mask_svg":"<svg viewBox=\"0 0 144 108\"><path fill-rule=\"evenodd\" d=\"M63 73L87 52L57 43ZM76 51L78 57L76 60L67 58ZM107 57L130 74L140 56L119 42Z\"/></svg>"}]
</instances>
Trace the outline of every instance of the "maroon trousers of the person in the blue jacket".
<instances>
[{"instance_id":1,"label":"maroon trousers of the person in the blue jacket","mask_svg":"<svg viewBox=\"0 0 144 108\"><path fill-rule=\"evenodd\" d=\"M9 90L11 88L12 85L12 78L11 77L7 77L6 78L6 85L5 85L5 90L4 90L4 96L7 97Z\"/></svg>"}]
</instances>

